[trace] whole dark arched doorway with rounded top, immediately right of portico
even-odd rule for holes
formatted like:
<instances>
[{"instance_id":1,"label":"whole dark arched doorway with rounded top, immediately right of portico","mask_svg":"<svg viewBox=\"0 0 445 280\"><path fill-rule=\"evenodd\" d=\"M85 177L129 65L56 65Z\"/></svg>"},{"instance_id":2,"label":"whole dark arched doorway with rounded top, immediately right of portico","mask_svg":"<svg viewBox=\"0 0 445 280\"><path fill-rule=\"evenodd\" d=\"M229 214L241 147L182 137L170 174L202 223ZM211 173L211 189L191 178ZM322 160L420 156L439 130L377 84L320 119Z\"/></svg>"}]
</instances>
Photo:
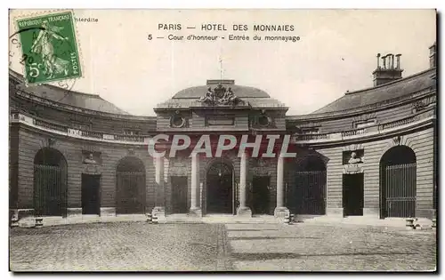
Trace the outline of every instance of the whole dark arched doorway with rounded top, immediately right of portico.
<instances>
[{"instance_id":1,"label":"whole dark arched doorway with rounded top, immediately right of portico","mask_svg":"<svg viewBox=\"0 0 445 280\"><path fill-rule=\"evenodd\" d=\"M297 214L326 213L326 165L320 156L307 156L296 164L295 184L288 207Z\"/></svg>"}]
</instances>

